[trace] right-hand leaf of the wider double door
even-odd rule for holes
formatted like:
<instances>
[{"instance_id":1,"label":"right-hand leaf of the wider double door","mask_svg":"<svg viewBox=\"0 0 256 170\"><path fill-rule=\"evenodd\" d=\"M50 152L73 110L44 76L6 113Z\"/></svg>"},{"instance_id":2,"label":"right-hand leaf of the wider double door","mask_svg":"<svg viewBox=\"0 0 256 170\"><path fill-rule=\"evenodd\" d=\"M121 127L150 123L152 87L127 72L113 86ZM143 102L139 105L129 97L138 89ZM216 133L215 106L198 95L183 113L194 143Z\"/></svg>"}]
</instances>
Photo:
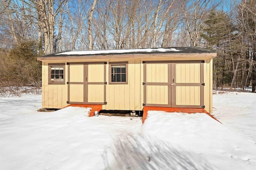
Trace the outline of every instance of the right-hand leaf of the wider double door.
<instances>
[{"instance_id":1,"label":"right-hand leaf of the wider double door","mask_svg":"<svg viewBox=\"0 0 256 170\"><path fill-rule=\"evenodd\" d=\"M204 108L204 63L172 63L172 107Z\"/></svg>"}]
</instances>

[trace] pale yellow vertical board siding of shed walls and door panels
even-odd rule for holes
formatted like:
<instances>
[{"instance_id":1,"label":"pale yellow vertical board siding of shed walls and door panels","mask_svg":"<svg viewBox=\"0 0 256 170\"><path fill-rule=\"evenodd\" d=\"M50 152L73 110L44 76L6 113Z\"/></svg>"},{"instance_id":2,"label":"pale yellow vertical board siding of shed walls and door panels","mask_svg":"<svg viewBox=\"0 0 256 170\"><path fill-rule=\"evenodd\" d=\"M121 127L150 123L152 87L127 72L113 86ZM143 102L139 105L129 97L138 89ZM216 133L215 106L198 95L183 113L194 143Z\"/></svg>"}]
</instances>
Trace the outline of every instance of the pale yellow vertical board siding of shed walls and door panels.
<instances>
[{"instance_id":1,"label":"pale yellow vertical board siding of shed walls and door panels","mask_svg":"<svg viewBox=\"0 0 256 170\"><path fill-rule=\"evenodd\" d=\"M156 58L154 60L164 60ZM98 60L106 61L106 60ZM108 62L128 61L128 84L107 84L106 102L102 109L120 110L141 110L144 101L142 85L144 70L142 60L139 59L108 59ZM56 61L55 61L56 62ZM63 62L63 61L62 61ZM74 62L74 61L73 61ZM80 60L75 62L86 62ZM52 63L52 61L50 62ZM61 63L61 62L59 62ZM102 82L104 78L103 65L88 65L88 81ZM168 82L168 64L156 63L147 64L147 82ZM70 82L83 82L83 64L70 65L70 71L74 75L70 76ZM206 111L212 113L212 59L204 63L204 105ZM106 65L107 82L109 75L108 64ZM65 66L65 78L68 80L68 66ZM181 63L176 64L176 83L200 83L200 63ZM104 102L100 95L103 85L88 84L88 102ZM70 90L74 93L70 96L70 101L83 102L83 85L70 84ZM168 104L168 86L147 85L148 104ZM42 107L63 108L67 106L66 101L68 92L67 84L48 84L48 62L42 62ZM176 86L176 105L200 105L200 86Z\"/></svg>"}]
</instances>

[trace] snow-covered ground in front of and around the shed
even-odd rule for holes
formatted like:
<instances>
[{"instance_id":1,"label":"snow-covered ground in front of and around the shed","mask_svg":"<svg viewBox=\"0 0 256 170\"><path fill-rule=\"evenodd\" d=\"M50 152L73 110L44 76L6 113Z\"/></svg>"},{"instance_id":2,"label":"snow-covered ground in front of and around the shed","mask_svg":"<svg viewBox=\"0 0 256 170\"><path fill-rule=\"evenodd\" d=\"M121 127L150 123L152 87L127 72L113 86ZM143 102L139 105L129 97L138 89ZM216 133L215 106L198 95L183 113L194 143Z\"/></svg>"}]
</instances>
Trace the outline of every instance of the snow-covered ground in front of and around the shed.
<instances>
[{"instance_id":1,"label":"snow-covered ground in front of and around the shed","mask_svg":"<svg viewBox=\"0 0 256 170\"><path fill-rule=\"evenodd\" d=\"M0 170L255 170L256 94L215 94L214 116L37 112L41 96L0 98Z\"/></svg>"}]
</instances>

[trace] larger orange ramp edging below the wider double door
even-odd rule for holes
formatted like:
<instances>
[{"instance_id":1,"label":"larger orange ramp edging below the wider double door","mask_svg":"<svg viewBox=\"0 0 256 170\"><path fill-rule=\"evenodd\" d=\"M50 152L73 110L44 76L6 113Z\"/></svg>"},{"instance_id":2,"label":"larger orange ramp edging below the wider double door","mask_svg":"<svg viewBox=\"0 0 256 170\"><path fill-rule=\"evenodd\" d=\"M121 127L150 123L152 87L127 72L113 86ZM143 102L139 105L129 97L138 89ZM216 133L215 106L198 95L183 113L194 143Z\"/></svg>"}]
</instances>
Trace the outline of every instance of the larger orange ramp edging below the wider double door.
<instances>
[{"instance_id":1,"label":"larger orange ramp edging below the wider double door","mask_svg":"<svg viewBox=\"0 0 256 170\"><path fill-rule=\"evenodd\" d=\"M218 121L213 115L205 111L204 109L195 109L195 108L174 108L174 107L149 107L149 106L144 106L143 107L143 118L142 118L142 123L145 122L147 118L148 111L150 110L156 110L156 111L166 111L166 112L183 112L183 113L206 113L216 121ZM220 121L218 121L220 122ZM221 122L220 122L221 123Z\"/></svg>"}]
</instances>

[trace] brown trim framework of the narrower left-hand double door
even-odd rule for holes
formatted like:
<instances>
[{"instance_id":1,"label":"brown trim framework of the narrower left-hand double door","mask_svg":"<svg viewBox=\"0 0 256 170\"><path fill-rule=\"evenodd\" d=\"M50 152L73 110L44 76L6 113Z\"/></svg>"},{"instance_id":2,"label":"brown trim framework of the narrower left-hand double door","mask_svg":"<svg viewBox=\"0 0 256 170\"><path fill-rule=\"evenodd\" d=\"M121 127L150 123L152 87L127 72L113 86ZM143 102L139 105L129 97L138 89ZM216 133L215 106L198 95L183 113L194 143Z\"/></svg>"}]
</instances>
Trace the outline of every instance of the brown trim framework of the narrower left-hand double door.
<instances>
[{"instance_id":1,"label":"brown trim framework of the narrower left-hand double door","mask_svg":"<svg viewBox=\"0 0 256 170\"><path fill-rule=\"evenodd\" d=\"M83 64L84 65L84 79L83 82L70 82L70 64ZM104 82L88 82L88 64L104 64ZM106 102L106 64L107 62L70 62L68 65L68 101L67 104L107 104ZM84 94L83 94L83 102L71 102L70 101L70 84L83 84ZM104 102L88 102L88 84L102 84L104 85Z\"/></svg>"}]
</instances>

